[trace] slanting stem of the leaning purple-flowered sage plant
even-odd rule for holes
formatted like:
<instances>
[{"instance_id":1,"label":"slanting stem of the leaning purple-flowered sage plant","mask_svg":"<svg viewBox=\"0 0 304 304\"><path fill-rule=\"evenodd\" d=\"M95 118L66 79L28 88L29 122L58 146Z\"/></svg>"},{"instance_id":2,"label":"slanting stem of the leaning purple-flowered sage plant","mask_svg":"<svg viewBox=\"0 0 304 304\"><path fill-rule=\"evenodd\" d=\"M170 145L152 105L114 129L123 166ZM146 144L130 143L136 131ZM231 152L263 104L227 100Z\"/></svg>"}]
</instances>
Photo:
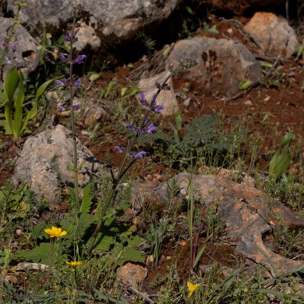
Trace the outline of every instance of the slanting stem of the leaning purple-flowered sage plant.
<instances>
[{"instance_id":1,"label":"slanting stem of the leaning purple-flowered sage plant","mask_svg":"<svg viewBox=\"0 0 304 304\"><path fill-rule=\"evenodd\" d=\"M167 76L167 78L165 79L165 81L163 82L163 84L161 85L161 87L158 89L157 93L154 95L153 99L151 100L150 104L153 104L156 100L156 98L158 97L158 95L160 94L163 86L167 83L167 81L170 79L171 77L171 73ZM144 124L145 124L145 121L147 120L148 118L148 115L149 115L149 112L150 112L150 107L148 107L148 109L146 110L145 112L145 115L143 117L143 120L141 121L141 124L140 124L140 127L139 127L139 130L141 130L143 127L144 127ZM131 166L135 163L135 160L131 161L129 163L129 165L125 168L125 165L126 165L126 162L127 162L127 159L130 155L130 152L134 149L134 146L135 146L135 143L137 141L137 138L138 138L139 135L135 135L132 142L131 142L131 145L129 146L128 150L127 150L127 153L125 155L125 158L121 164L121 167L119 169L119 172L117 174L117 177L115 179L112 179L112 186L111 186L111 189L110 191L107 193L107 196L106 196L106 199L105 199L105 203L104 203L104 206L103 206L103 209L101 210L100 212L100 216L99 216L99 221L98 221L98 224L95 228L95 231L92 235L92 239L91 239L91 242L90 242L90 245L87 249L87 254L88 255L91 255L92 253L92 250L95 246L95 240L97 238L97 235L98 233L100 232L101 230L101 227L103 225L103 217L105 215L105 212L108 208L108 205L110 204L110 202L112 201L113 197L114 197L114 194L115 194L115 191L116 191L116 188L120 182L120 180L123 178L123 176L126 174L126 172L131 168ZM124 169L125 168L125 169Z\"/></svg>"}]
</instances>

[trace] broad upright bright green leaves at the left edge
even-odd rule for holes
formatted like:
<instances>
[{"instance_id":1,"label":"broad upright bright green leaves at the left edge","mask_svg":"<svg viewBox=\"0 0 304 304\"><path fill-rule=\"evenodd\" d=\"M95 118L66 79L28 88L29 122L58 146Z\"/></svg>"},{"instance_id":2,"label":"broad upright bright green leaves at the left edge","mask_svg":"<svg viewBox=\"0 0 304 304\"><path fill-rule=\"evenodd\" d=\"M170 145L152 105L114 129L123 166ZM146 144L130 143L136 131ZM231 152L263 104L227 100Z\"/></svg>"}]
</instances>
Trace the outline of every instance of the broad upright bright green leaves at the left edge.
<instances>
[{"instance_id":1,"label":"broad upright bright green leaves at the left edge","mask_svg":"<svg viewBox=\"0 0 304 304\"><path fill-rule=\"evenodd\" d=\"M26 110L23 104L25 88L21 72L18 72L16 67L8 71L3 83L3 91L6 95L4 111L6 134L13 134L15 138L19 138L22 135L27 126L27 122L36 115L39 99L53 81L54 80L49 80L37 89L31 109L24 113Z\"/></svg>"}]
</instances>

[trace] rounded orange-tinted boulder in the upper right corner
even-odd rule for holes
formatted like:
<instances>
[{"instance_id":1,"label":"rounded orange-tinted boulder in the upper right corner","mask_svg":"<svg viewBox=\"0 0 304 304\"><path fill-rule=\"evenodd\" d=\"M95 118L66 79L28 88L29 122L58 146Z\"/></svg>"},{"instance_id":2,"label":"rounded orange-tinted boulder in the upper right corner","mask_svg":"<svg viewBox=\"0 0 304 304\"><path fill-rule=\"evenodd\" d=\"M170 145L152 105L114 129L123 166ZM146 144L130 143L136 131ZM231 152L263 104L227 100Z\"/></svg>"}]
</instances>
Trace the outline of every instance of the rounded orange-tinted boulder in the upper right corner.
<instances>
[{"instance_id":1,"label":"rounded orange-tinted boulder in the upper right corner","mask_svg":"<svg viewBox=\"0 0 304 304\"><path fill-rule=\"evenodd\" d=\"M270 56L289 58L300 45L288 21L273 13L255 13L245 29L263 47L264 53Z\"/></svg>"}]
</instances>

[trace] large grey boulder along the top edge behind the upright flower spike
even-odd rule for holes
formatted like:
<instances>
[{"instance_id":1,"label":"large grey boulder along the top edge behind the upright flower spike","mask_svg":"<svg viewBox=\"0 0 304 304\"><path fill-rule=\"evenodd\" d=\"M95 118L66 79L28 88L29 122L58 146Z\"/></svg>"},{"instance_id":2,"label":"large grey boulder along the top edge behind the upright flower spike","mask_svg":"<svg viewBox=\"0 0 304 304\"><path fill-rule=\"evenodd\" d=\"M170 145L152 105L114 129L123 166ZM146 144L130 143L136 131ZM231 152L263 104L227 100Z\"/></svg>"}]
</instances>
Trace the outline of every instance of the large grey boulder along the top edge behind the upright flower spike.
<instances>
[{"instance_id":1,"label":"large grey boulder along the top edge behind the upright flower spike","mask_svg":"<svg viewBox=\"0 0 304 304\"><path fill-rule=\"evenodd\" d=\"M85 19L88 25L86 33L80 33L80 38L90 40L94 36L94 43L103 44L107 40L109 47L113 43L129 40L136 36L136 32L149 24L157 24L168 18L182 0L83 0ZM16 10L15 0L8 0L9 9ZM45 20L48 31L56 30L70 19L73 2L69 0L28 0L28 6L22 8L20 20L30 24L33 28L42 29ZM84 23L84 22L83 22ZM98 39L97 39L98 36ZM110 43L109 43L110 42ZM82 43L82 42L81 42ZM101 45L104 48L105 45Z\"/></svg>"}]
</instances>

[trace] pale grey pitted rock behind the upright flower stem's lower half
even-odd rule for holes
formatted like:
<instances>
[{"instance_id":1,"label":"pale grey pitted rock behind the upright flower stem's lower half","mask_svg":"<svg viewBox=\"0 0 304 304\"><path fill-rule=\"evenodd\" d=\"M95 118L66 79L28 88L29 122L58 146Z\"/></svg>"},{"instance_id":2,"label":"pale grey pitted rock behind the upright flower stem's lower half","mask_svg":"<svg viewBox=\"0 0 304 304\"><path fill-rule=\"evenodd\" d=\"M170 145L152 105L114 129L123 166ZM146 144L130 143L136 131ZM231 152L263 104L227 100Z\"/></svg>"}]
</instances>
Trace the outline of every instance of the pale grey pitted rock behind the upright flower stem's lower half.
<instances>
[{"instance_id":1,"label":"pale grey pitted rock behind the upright flower stem's lower half","mask_svg":"<svg viewBox=\"0 0 304 304\"><path fill-rule=\"evenodd\" d=\"M74 173L68 170L67 163L73 164L71 132L57 125L55 129L46 130L29 137L23 146L21 155L16 162L13 180L31 183L32 190L39 196L45 197L53 207L58 203L59 179L65 185L73 186ZM78 173L79 183L88 183L90 173L102 170L102 165L78 141L78 165L83 162Z\"/></svg>"}]
</instances>

